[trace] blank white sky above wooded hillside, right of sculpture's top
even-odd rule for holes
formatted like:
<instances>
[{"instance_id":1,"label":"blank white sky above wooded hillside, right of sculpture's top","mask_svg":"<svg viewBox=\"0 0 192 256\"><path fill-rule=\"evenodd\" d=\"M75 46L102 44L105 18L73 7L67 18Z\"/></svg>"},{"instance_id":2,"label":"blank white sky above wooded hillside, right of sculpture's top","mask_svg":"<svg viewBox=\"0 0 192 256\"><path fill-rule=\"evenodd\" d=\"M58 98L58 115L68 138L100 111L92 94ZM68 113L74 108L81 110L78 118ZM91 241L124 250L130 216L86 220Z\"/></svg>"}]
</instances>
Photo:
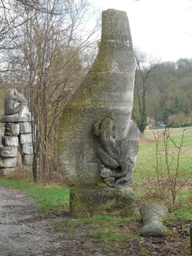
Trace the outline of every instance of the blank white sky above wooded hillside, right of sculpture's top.
<instances>
[{"instance_id":1,"label":"blank white sky above wooded hillside, right of sculpture's top","mask_svg":"<svg viewBox=\"0 0 192 256\"><path fill-rule=\"evenodd\" d=\"M192 0L91 0L127 12L134 47L161 62L192 58Z\"/></svg>"}]
</instances>

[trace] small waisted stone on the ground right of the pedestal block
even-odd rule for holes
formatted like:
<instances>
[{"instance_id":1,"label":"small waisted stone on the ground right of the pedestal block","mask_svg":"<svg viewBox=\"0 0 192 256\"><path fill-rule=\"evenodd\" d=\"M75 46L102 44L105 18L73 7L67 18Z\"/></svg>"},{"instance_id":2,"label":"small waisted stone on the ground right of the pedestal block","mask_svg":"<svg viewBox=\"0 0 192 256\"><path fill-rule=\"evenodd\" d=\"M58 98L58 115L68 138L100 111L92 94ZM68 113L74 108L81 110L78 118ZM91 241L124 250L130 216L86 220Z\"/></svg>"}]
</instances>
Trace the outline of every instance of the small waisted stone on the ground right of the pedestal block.
<instances>
[{"instance_id":1,"label":"small waisted stone on the ground right of the pedestal block","mask_svg":"<svg viewBox=\"0 0 192 256\"><path fill-rule=\"evenodd\" d=\"M167 234L167 228L163 224L168 214L167 207L160 204L146 204L139 211L144 223L139 234L154 237Z\"/></svg>"}]
</instances>

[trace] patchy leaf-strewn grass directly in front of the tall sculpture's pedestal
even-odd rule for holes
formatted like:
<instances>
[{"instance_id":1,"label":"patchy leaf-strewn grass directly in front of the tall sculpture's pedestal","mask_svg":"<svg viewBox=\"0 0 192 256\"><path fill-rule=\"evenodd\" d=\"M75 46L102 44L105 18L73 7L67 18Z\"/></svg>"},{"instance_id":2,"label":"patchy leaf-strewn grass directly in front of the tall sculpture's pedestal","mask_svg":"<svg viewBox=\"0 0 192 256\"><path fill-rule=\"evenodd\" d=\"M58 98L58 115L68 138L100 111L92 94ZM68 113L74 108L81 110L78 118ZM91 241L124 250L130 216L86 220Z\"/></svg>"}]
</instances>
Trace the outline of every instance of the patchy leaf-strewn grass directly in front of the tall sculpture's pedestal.
<instances>
[{"instance_id":1,"label":"patchy leaf-strewn grass directly in front of the tall sculpture's pedestal","mask_svg":"<svg viewBox=\"0 0 192 256\"><path fill-rule=\"evenodd\" d=\"M57 231L69 232L73 238L73 231L78 229L78 234L93 238L97 246L110 247L112 242L123 244L126 241L138 239L137 229L140 216L138 214L127 218L111 216L94 216L82 219L65 218L52 221ZM134 230L131 234L130 230Z\"/></svg>"}]
</instances>

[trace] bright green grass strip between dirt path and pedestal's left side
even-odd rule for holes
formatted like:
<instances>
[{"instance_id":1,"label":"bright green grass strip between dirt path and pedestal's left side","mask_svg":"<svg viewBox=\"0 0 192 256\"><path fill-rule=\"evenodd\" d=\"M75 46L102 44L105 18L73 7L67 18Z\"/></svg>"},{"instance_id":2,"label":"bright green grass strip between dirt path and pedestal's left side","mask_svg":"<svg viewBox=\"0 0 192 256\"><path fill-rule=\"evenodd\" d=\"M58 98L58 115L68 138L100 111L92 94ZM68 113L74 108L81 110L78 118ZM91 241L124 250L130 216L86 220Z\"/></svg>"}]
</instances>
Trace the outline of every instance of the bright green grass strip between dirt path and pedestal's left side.
<instances>
[{"instance_id":1,"label":"bright green grass strip between dirt path and pedestal's left side","mask_svg":"<svg viewBox=\"0 0 192 256\"><path fill-rule=\"evenodd\" d=\"M0 178L0 184L9 188L16 188L25 191L26 194L34 198L38 211L66 211L69 204L69 189L48 187L44 185L24 183L23 181Z\"/></svg>"}]
</instances>

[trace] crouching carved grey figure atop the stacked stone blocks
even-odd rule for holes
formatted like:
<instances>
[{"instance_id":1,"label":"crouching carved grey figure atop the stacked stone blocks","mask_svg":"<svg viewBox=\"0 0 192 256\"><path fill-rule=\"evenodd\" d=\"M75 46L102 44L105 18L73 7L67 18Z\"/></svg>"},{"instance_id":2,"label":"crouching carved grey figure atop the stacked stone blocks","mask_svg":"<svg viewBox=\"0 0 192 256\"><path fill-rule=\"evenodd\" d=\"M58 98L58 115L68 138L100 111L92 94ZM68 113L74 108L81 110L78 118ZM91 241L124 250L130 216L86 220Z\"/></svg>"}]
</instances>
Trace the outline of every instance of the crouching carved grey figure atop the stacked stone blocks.
<instances>
[{"instance_id":1,"label":"crouching carved grey figure atop the stacked stone blocks","mask_svg":"<svg viewBox=\"0 0 192 256\"><path fill-rule=\"evenodd\" d=\"M28 105L28 100L18 93L16 89L9 89L5 96L5 115L22 115L25 106Z\"/></svg>"}]
</instances>

